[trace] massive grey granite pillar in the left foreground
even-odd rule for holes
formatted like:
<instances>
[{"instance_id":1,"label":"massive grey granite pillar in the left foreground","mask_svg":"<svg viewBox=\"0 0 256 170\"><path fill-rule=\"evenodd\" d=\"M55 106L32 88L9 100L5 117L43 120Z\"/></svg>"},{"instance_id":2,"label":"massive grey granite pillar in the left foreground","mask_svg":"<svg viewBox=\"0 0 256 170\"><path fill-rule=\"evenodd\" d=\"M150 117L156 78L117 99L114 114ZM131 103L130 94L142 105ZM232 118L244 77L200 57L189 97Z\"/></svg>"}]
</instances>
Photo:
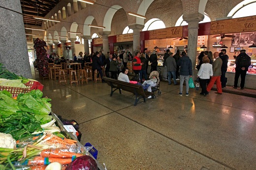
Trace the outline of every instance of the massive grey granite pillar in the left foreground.
<instances>
[{"instance_id":1,"label":"massive grey granite pillar in the left foreground","mask_svg":"<svg viewBox=\"0 0 256 170\"><path fill-rule=\"evenodd\" d=\"M7 8L0 9L0 63L17 75L32 78L20 0L0 0L0 6Z\"/></svg>"}]
</instances>

